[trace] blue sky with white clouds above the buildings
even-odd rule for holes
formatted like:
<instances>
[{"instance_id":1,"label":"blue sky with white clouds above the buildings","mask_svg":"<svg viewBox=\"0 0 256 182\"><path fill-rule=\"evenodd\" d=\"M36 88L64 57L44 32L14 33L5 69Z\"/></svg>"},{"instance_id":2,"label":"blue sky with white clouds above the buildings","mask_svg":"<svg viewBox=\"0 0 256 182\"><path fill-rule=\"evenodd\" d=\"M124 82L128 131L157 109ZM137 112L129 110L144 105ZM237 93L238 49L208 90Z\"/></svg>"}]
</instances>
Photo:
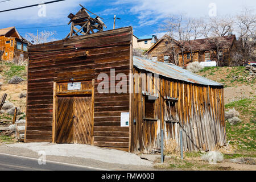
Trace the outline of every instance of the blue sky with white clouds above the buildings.
<instances>
[{"instance_id":1,"label":"blue sky with white clouds above the buildings","mask_svg":"<svg viewBox=\"0 0 256 182\"><path fill-rule=\"evenodd\" d=\"M10 0L7 2L0 0L0 11L48 1L52 0ZM164 32L160 25L168 16L183 14L195 18L207 17L210 3L216 5L218 16L237 14L244 6L256 8L255 0L66 0L46 5L45 17L38 16L38 7L0 13L0 28L15 26L22 36L25 36L26 32L36 34L37 30L56 31L55 38L62 39L70 29L67 16L69 13L75 14L80 10L79 3L104 18L108 26L106 30L113 28L113 18L116 14L118 18L121 18L117 20L116 28L133 26L136 36L155 34L162 36Z\"/></svg>"}]
</instances>

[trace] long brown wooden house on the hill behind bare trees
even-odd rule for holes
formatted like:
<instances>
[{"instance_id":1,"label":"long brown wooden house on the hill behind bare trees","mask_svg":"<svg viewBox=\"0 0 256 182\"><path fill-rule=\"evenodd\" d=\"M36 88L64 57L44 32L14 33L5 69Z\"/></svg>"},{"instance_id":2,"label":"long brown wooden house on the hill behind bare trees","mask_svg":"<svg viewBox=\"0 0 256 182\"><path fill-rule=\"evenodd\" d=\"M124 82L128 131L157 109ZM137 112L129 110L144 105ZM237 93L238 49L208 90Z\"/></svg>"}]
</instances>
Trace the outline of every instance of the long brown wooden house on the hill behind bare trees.
<instances>
[{"instance_id":1,"label":"long brown wooden house on the hill behind bare trees","mask_svg":"<svg viewBox=\"0 0 256 182\"><path fill-rule=\"evenodd\" d=\"M234 49L236 49L236 35L184 42L184 66L192 61L203 62L211 60L217 62L217 47L221 50L218 52L218 65L229 66L232 61L232 53L234 52ZM164 35L162 39L148 49L146 54L151 60L166 63L175 63L176 59L176 63L178 63L180 67L183 66L181 42L170 38L168 35Z\"/></svg>"}]
</instances>

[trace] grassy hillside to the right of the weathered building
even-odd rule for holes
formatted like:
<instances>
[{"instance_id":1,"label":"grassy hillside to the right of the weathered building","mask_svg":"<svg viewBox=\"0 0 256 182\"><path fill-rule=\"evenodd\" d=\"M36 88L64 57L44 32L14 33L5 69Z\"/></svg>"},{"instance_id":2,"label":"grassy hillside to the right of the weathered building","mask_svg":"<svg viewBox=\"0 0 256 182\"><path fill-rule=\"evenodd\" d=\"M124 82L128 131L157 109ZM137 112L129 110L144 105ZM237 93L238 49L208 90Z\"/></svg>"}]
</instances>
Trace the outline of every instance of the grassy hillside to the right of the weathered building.
<instances>
[{"instance_id":1,"label":"grassy hillside to the right of the weathered building","mask_svg":"<svg viewBox=\"0 0 256 182\"><path fill-rule=\"evenodd\" d=\"M225 109L236 109L241 122L230 125L226 122L229 144L242 152L255 152L256 139L256 85L255 77L247 80L250 72L245 67L204 68L201 76L224 84Z\"/></svg>"}]
</instances>

